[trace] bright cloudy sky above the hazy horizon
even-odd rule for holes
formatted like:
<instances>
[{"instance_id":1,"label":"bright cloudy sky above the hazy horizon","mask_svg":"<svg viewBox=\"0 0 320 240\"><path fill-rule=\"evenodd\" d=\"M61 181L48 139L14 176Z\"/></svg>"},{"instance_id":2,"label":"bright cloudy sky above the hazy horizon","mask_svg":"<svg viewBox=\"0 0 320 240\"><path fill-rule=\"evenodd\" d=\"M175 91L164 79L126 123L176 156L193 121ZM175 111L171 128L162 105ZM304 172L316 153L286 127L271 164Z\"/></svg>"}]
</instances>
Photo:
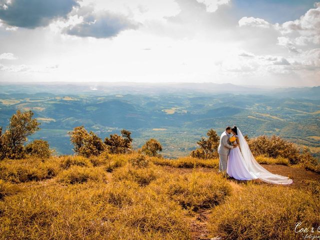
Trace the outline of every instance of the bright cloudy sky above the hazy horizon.
<instances>
[{"instance_id":1,"label":"bright cloudy sky above the hazy horizon","mask_svg":"<svg viewBox=\"0 0 320 240\"><path fill-rule=\"evenodd\" d=\"M0 0L0 82L320 85L314 0Z\"/></svg>"}]
</instances>

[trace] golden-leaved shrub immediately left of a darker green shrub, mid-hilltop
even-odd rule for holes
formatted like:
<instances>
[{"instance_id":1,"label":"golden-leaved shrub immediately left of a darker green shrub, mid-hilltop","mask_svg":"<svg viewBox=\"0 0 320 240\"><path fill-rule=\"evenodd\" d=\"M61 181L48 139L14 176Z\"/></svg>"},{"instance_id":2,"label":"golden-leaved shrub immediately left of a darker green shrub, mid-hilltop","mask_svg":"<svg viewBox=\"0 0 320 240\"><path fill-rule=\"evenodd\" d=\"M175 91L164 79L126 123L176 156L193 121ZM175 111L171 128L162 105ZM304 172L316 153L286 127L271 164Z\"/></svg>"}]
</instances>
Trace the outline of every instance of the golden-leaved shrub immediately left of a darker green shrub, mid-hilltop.
<instances>
[{"instance_id":1,"label":"golden-leaved shrub immediately left of a darker green shrub, mid-hilltop","mask_svg":"<svg viewBox=\"0 0 320 240\"><path fill-rule=\"evenodd\" d=\"M68 132L70 135L70 141L73 143L73 151L85 157L91 155L97 156L102 153L106 146L94 132L87 130L84 126L77 126L73 128L73 131Z\"/></svg>"}]
</instances>

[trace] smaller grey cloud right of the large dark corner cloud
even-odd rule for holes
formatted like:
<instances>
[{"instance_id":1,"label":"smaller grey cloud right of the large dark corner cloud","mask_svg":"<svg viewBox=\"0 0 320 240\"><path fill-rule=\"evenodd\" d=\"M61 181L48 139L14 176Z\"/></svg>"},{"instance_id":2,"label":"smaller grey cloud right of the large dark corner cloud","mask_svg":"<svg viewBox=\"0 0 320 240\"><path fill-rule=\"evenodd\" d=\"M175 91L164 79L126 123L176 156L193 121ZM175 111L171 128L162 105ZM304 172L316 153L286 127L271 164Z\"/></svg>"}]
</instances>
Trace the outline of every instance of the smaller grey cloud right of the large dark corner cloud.
<instances>
[{"instance_id":1,"label":"smaller grey cloud right of the large dark corner cloud","mask_svg":"<svg viewBox=\"0 0 320 240\"><path fill-rule=\"evenodd\" d=\"M137 29L138 26L124 15L100 11L84 14L81 23L65 28L64 32L80 37L108 38L125 29Z\"/></svg>"}]
</instances>

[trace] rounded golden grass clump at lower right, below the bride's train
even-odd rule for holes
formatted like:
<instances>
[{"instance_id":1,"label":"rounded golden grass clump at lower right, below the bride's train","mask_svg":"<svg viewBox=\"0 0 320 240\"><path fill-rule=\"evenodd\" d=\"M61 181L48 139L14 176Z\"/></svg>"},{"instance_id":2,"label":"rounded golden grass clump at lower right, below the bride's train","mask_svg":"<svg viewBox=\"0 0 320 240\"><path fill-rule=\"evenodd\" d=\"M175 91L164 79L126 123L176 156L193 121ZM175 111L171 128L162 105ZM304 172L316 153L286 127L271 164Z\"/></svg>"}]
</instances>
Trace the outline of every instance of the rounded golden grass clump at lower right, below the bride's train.
<instances>
[{"instance_id":1,"label":"rounded golden grass clump at lower right, below the bride's train","mask_svg":"<svg viewBox=\"0 0 320 240\"><path fill-rule=\"evenodd\" d=\"M297 239L296 222L305 227L318 224L314 209L305 191L251 184L217 206L208 226L212 235L223 239Z\"/></svg>"}]
</instances>

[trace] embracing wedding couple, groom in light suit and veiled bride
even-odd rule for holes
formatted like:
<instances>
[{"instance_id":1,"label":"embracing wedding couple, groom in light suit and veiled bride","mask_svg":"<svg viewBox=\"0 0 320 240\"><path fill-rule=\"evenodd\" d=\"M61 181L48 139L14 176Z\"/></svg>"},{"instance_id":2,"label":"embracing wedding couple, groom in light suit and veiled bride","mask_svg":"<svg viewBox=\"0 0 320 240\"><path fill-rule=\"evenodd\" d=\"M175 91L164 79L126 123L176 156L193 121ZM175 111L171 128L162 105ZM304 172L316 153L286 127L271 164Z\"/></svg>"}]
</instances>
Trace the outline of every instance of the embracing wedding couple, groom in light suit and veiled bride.
<instances>
[{"instance_id":1,"label":"embracing wedding couple, groom in light suit and veiled bride","mask_svg":"<svg viewBox=\"0 0 320 240\"><path fill-rule=\"evenodd\" d=\"M244 136L236 126L225 128L220 136L218 153L219 172L226 172L237 180L260 179L274 184L292 183L292 179L273 174L257 163Z\"/></svg>"}]
</instances>

